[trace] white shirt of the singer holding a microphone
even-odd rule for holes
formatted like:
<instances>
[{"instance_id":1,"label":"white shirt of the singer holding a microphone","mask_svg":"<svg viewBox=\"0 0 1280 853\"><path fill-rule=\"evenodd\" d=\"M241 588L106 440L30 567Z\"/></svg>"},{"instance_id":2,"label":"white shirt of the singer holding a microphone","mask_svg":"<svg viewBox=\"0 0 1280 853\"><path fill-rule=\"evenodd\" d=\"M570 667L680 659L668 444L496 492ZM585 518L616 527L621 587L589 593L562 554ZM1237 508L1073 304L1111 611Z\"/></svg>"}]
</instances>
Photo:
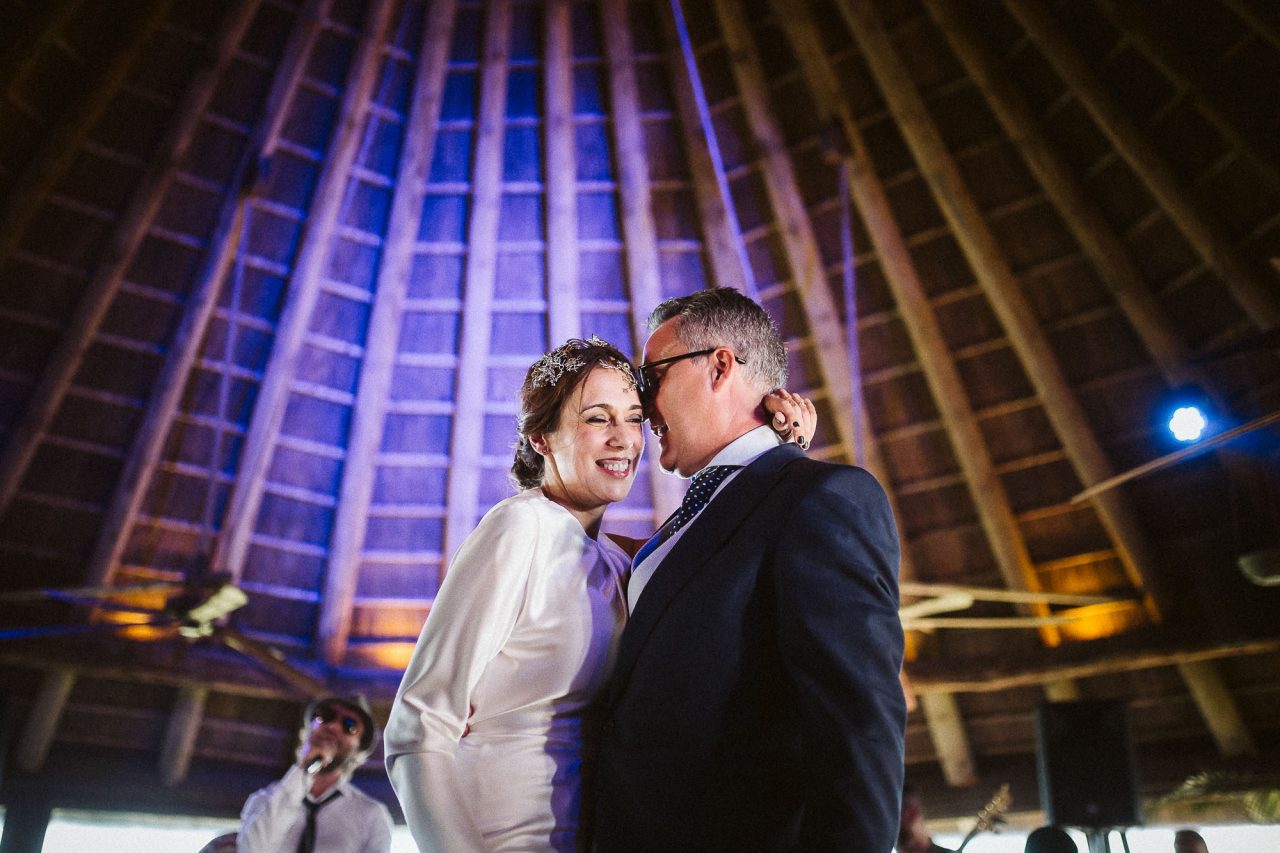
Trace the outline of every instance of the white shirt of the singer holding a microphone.
<instances>
[{"instance_id":1,"label":"white shirt of the singer holding a microphone","mask_svg":"<svg viewBox=\"0 0 1280 853\"><path fill-rule=\"evenodd\" d=\"M237 853L292 853L307 825L303 799L312 803L340 792L316 812L315 853L387 853L392 849L392 815L387 807L343 779L321 797L311 797L311 779L294 765L280 781L253 792L241 809Z\"/></svg>"}]
</instances>

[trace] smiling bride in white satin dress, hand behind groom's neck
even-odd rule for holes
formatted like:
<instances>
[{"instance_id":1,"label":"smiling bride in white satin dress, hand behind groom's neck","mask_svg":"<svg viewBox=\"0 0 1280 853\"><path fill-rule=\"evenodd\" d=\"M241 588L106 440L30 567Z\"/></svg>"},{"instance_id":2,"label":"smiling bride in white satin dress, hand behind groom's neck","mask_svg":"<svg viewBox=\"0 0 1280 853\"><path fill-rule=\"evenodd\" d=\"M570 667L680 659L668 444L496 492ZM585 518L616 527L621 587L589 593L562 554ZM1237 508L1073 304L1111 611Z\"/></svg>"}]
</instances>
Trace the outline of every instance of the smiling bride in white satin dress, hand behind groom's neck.
<instances>
[{"instance_id":1,"label":"smiling bride in white satin dress, hand behind groom's neck","mask_svg":"<svg viewBox=\"0 0 1280 853\"><path fill-rule=\"evenodd\" d=\"M808 400L782 391L764 402L780 433L801 446L813 437ZM631 365L599 338L529 369L512 465L522 491L458 549L383 735L421 850L586 849L589 711L613 666L640 544L602 537L600 521L631 491L643 421Z\"/></svg>"}]
</instances>

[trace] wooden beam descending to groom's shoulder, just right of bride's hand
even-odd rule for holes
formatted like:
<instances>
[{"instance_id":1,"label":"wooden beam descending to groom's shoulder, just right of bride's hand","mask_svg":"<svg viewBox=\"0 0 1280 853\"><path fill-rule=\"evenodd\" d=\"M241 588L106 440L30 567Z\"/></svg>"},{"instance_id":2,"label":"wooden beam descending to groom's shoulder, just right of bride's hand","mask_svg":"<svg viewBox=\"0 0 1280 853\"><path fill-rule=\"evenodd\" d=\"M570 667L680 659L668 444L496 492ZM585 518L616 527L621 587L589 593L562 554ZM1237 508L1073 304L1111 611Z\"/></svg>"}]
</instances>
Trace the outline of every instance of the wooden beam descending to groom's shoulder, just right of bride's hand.
<instances>
[{"instance_id":1,"label":"wooden beam descending to groom's shoulder, just right of bride's hand","mask_svg":"<svg viewBox=\"0 0 1280 853\"><path fill-rule=\"evenodd\" d=\"M836 428L836 441L832 443L844 448L845 459L854 460L860 441L854 416L854 377L849 346L823 272L813 224L809 222L795 168L787 156L786 138L769 108L768 85L742 4L740 0L716 0L714 8L748 126L760 151L764 186L778 223L778 237L791 268L791 279L814 345L824 356L818 360L818 368L831 394Z\"/></svg>"}]
</instances>

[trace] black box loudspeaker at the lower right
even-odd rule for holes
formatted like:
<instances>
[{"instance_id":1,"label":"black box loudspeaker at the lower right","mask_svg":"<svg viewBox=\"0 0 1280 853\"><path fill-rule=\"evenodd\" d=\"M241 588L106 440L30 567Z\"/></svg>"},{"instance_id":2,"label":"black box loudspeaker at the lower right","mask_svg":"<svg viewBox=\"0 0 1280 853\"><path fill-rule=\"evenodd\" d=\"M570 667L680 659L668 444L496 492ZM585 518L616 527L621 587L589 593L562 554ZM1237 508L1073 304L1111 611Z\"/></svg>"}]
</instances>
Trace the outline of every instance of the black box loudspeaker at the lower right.
<instances>
[{"instance_id":1,"label":"black box loudspeaker at the lower right","mask_svg":"<svg viewBox=\"0 0 1280 853\"><path fill-rule=\"evenodd\" d=\"M1123 702L1044 702L1036 708L1036 774L1050 824L1142 824L1137 762Z\"/></svg>"}]
</instances>

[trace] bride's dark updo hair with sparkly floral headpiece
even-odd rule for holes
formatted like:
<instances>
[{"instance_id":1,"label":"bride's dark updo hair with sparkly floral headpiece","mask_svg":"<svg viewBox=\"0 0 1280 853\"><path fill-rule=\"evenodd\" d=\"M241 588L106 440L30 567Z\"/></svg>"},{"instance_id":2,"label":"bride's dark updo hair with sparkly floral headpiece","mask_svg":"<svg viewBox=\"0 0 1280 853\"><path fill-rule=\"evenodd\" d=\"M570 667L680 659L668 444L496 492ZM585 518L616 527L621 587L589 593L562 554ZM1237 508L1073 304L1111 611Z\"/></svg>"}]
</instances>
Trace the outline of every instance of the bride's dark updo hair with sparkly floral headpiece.
<instances>
[{"instance_id":1,"label":"bride's dark updo hair with sparkly floral headpiece","mask_svg":"<svg viewBox=\"0 0 1280 853\"><path fill-rule=\"evenodd\" d=\"M520 414L516 416L516 461L511 479L521 489L543 484L547 460L534 450L530 435L556 432L561 410L570 394L595 368L621 370L635 387L631 362L622 352L594 334L588 341L570 338L535 361L520 386Z\"/></svg>"}]
</instances>

